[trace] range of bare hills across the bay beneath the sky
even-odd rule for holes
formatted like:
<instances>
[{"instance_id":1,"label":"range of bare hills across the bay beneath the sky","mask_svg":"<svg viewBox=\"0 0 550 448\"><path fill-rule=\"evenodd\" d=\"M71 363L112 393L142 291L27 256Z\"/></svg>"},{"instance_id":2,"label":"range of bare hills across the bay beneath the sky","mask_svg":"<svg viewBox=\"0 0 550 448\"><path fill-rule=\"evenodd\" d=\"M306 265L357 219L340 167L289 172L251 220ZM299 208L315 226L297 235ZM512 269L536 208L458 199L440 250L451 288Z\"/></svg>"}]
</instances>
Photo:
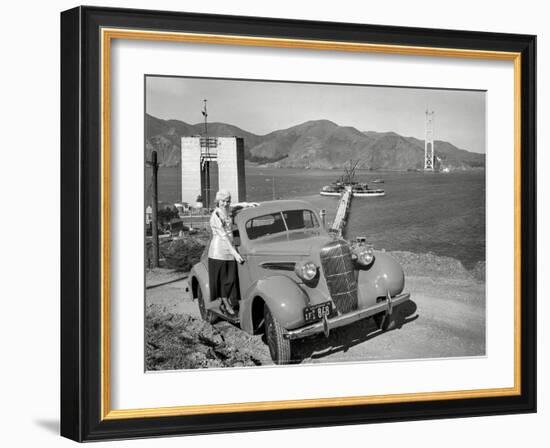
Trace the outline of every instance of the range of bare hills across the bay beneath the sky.
<instances>
[{"instance_id":1,"label":"range of bare hills across the bay beneath the sky","mask_svg":"<svg viewBox=\"0 0 550 448\"><path fill-rule=\"evenodd\" d=\"M178 165L181 137L202 131L202 123L190 125L146 115L146 156L155 149L162 165ZM342 168L350 159L360 159L362 168L373 170L423 167L424 141L395 132L361 132L329 120L308 121L263 136L230 124L209 123L208 133L243 137L246 160L279 167ZM449 142L436 140L435 153L436 164L451 170L485 166L484 154L459 149Z\"/></svg>"}]
</instances>

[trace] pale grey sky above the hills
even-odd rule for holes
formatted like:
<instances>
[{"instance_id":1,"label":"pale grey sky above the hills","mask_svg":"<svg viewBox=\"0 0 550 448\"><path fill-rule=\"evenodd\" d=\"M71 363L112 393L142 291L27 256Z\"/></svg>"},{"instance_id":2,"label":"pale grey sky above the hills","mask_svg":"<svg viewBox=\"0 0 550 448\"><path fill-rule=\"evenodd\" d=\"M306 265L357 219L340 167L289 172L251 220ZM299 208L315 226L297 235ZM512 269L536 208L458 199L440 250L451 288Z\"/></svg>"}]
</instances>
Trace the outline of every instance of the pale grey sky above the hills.
<instances>
[{"instance_id":1,"label":"pale grey sky above the hills","mask_svg":"<svg viewBox=\"0 0 550 448\"><path fill-rule=\"evenodd\" d=\"M189 124L208 121L265 135L326 119L360 131L393 131L421 140L425 111L435 112L434 139L485 153L485 92L410 87L146 77L146 112Z\"/></svg>"}]
</instances>

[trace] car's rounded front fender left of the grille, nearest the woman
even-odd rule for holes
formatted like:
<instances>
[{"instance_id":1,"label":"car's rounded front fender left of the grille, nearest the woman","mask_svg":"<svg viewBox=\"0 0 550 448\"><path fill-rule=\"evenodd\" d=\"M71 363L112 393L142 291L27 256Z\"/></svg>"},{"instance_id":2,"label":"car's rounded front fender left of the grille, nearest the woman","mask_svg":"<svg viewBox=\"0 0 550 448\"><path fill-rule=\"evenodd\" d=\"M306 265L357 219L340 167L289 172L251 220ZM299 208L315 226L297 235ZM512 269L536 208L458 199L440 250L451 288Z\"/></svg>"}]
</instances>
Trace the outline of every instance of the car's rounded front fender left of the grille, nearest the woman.
<instances>
[{"instance_id":1,"label":"car's rounded front fender left of the grille, nearest the woman","mask_svg":"<svg viewBox=\"0 0 550 448\"><path fill-rule=\"evenodd\" d=\"M304 307L309 303L307 294L294 280L286 276L263 278L246 292L241 303L241 328L254 331L253 309L257 300L269 307L271 314L283 328L292 330L304 324Z\"/></svg>"}]
</instances>

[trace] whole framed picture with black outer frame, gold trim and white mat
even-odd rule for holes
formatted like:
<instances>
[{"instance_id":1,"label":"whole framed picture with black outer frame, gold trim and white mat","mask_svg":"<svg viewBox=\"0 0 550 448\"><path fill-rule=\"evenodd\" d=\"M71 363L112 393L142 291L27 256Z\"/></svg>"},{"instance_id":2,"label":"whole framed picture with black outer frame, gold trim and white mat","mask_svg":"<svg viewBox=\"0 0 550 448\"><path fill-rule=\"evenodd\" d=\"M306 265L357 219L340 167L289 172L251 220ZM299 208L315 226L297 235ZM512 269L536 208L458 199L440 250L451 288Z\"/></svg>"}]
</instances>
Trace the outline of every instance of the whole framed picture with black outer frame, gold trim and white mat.
<instances>
[{"instance_id":1,"label":"whole framed picture with black outer frame, gold trim and white mat","mask_svg":"<svg viewBox=\"0 0 550 448\"><path fill-rule=\"evenodd\" d=\"M61 14L61 433L536 411L535 36Z\"/></svg>"}]
</instances>

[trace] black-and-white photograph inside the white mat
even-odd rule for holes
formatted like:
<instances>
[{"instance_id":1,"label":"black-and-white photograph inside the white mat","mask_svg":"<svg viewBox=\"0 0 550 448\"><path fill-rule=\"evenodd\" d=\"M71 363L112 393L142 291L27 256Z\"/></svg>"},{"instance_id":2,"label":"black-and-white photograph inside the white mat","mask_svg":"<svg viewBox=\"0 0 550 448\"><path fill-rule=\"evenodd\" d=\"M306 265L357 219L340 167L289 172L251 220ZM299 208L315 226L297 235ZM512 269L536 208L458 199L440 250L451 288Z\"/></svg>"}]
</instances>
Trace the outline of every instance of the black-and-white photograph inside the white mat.
<instances>
[{"instance_id":1,"label":"black-and-white photograph inside the white mat","mask_svg":"<svg viewBox=\"0 0 550 448\"><path fill-rule=\"evenodd\" d=\"M145 369L486 355L486 92L145 76Z\"/></svg>"}]
</instances>

